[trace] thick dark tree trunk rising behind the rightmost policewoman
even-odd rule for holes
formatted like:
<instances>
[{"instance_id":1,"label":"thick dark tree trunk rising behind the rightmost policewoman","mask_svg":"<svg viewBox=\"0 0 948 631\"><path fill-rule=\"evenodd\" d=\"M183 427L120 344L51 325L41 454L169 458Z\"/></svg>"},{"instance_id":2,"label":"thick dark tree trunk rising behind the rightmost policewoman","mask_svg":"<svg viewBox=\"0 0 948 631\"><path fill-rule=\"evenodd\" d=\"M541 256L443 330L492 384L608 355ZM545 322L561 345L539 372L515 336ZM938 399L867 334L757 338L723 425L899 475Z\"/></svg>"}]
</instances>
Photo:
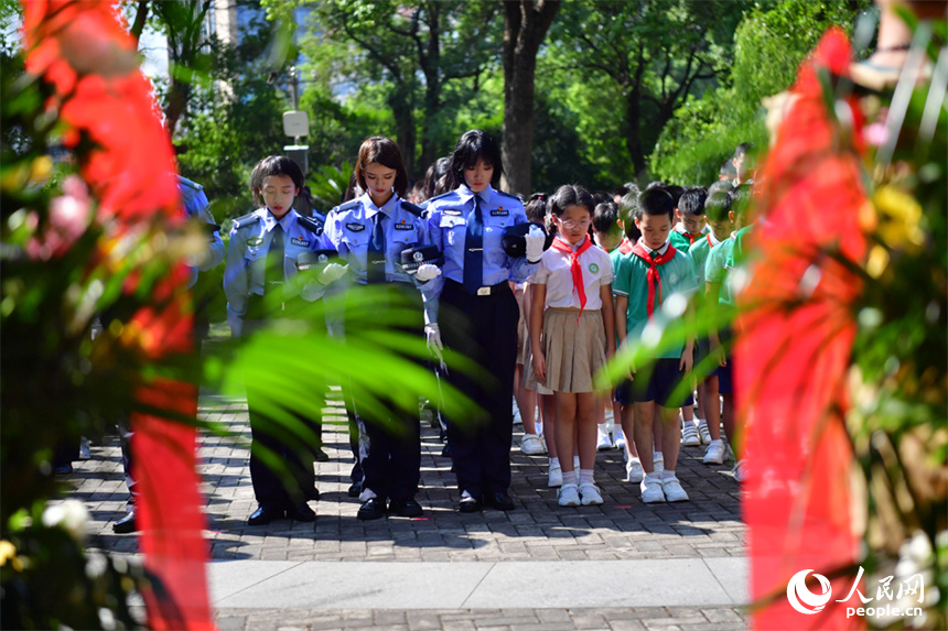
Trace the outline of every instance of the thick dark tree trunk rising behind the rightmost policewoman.
<instances>
[{"instance_id":1,"label":"thick dark tree trunk rising behind the rightmost policewoman","mask_svg":"<svg viewBox=\"0 0 948 631\"><path fill-rule=\"evenodd\" d=\"M559 0L504 2L504 178L500 187L527 196L531 192L534 150L534 79L537 52Z\"/></svg>"}]
</instances>

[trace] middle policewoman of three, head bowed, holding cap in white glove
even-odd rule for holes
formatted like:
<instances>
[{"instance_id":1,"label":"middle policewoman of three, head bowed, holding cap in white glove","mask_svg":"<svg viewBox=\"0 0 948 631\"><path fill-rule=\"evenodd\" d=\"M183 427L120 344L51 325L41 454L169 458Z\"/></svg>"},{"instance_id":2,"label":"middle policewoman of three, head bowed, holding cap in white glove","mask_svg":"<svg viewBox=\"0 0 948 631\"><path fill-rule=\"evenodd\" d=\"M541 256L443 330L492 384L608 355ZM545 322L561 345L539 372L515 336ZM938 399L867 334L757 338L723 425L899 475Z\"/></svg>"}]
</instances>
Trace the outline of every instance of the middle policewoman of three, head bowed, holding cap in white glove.
<instances>
[{"instance_id":1,"label":"middle policewoman of three, head bowed, holding cap in white glove","mask_svg":"<svg viewBox=\"0 0 948 631\"><path fill-rule=\"evenodd\" d=\"M422 264L417 273L409 274L400 264L403 251L430 244L431 239L422 210L401 198L408 175L395 142L384 137L363 142L355 179L365 193L328 214L326 235L340 258L347 261L356 291L365 285L386 287L417 305L417 323L399 328L421 337L424 318L419 289L427 292L429 281L441 271L434 264ZM384 317L385 304L380 302L377 308ZM367 449L360 453L365 477L358 519L379 519L386 510L400 516L420 515L422 509L414 499L421 468L418 412L399 412L391 403L387 405L388 418L373 418L359 412L358 404L355 401L356 413L368 436Z\"/></svg>"}]
</instances>

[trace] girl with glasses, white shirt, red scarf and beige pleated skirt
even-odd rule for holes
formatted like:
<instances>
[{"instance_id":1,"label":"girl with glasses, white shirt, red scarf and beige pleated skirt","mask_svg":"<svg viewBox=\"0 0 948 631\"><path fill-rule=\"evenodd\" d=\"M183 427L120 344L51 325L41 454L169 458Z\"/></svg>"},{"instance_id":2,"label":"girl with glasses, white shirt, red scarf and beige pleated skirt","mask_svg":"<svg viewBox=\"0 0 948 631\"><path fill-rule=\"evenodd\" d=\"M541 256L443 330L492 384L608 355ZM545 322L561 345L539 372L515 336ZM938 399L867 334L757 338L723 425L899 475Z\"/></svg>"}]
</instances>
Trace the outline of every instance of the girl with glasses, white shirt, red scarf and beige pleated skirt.
<instances>
[{"instance_id":1,"label":"girl with glasses, white shirt, red scarf and beige pleated skirt","mask_svg":"<svg viewBox=\"0 0 948 631\"><path fill-rule=\"evenodd\" d=\"M613 271L588 230L594 199L582 186L561 186L550 200L558 236L530 279L530 342L537 380L553 391L561 507L602 503L593 479L596 453L593 376L615 351ZM540 344L540 333L542 341ZM579 450L577 476L569 456Z\"/></svg>"}]
</instances>

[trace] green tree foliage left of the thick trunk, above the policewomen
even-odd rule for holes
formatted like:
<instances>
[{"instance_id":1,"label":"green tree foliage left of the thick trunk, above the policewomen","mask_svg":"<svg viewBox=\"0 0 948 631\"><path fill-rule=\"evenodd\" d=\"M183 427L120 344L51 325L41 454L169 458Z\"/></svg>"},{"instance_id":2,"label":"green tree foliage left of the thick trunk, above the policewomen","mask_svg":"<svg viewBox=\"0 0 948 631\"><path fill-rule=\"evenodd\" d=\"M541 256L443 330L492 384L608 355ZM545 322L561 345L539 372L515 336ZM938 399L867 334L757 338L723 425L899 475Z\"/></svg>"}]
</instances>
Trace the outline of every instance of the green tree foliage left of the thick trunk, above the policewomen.
<instances>
[{"instance_id":1,"label":"green tree foliage left of the thick trunk, above the policewomen","mask_svg":"<svg viewBox=\"0 0 948 631\"><path fill-rule=\"evenodd\" d=\"M497 7L482 0L299 0L267 7L280 19L289 19L293 7L310 10L301 47L319 98L340 90L362 100L365 84L384 87L394 133L373 133L395 137L412 176L444 152L445 138L459 133L453 84L473 79L465 85L476 89L498 46Z\"/></svg>"}]
</instances>

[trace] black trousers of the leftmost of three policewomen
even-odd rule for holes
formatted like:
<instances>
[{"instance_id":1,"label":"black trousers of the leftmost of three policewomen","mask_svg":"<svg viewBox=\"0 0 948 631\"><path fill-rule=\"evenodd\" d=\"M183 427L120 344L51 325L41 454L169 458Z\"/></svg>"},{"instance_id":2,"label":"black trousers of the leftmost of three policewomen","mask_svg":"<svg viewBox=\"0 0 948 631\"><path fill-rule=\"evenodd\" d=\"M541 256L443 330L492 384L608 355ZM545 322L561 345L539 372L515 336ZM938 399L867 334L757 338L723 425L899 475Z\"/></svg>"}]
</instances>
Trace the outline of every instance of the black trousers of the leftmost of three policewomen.
<instances>
[{"instance_id":1,"label":"black trousers of the leftmost of three policewomen","mask_svg":"<svg viewBox=\"0 0 948 631\"><path fill-rule=\"evenodd\" d=\"M245 334L259 328L261 325L261 322L245 320ZM287 376L287 378L293 379L293 376ZM291 504L319 499L313 465L315 450L321 447L320 442L312 444L303 440L299 434L288 431L279 420L268 412L268 406L261 403L267 400L272 401L272 393L261 390L254 383L246 383L245 387L247 389L247 411L250 415L250 437L252 439L250 445L250 481L254 485L254 496L257 498L257 503L265 509L279 510ZM315 407L322 410L325 405L326 387L315 384L312 395L316 399L317 405ZM319 414L302 414L287 409L283 409L283 412L290 414L305 429L313 432L316 436L321 435L322 418ZM288 483L284 485L280 475L273 471L260 457L260 447L266 447L272 452L287 467L291 478Z\"/></svg>"}]
</instances>

